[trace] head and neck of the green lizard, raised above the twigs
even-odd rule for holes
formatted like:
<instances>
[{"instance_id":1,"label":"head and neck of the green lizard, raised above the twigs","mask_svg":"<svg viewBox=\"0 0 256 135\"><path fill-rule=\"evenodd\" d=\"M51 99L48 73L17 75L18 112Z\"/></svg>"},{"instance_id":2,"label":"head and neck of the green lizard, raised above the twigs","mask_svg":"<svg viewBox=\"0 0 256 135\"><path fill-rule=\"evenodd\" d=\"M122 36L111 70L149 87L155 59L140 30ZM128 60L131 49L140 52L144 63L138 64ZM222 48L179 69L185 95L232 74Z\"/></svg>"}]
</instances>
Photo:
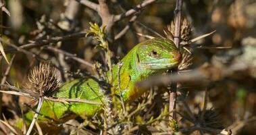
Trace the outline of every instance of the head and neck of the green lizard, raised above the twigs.
<instances>
[{"instance_id":1,"label":"head and neck of the green lizard, raised above the twigs","mask_svg":"<svg viewBox=\"0 0 256 135\"><path fill-rule=\"evenodd\" d=\"M153 38L136 45L122 59L124 65L120 70L120 74L122 74L120 86L123 90L122 97L124 101L133 101L147 90L136 88L134 82L177 67L181 58L180 52L174 43L165 38ZM117 71L118 66L115 69ZM118 77L116 76L116 78ZM118 86L117 80L114 82L116 83L115 86Z\"/></svg>"}]
</instances>

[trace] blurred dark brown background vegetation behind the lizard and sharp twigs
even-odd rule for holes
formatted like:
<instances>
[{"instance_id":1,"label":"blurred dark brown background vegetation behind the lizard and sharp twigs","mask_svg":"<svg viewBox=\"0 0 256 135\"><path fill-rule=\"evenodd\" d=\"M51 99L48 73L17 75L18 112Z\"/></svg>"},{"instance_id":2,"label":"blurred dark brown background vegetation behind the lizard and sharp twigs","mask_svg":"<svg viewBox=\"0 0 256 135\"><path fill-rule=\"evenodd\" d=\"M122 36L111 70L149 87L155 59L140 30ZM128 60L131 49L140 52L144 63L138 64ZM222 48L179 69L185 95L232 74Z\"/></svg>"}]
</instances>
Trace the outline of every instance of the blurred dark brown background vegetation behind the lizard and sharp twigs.
<instances>
[{"instance_id":1,"label":"blurred dark brown background vegetation behind the lizard and sharp twigs","mask_svg":"<svg viewBox=\"0 0 256 135\"><path fill-rule=\"evenodd\" d=\"M11 16L2 14L1 38L17 46L88 30L89 22L103 24L97 11L73 0L7 0L5 2L5 7ZM94 0L92 2L98 3ZM142 2L109 0L110 12L121 14ZM165 36L163 30L166 30L174 19L175 5L174 0L155 1L143 10L136 11L132 16L115 22L108 31L109 46L114 54L113 63L124 57L134 45L147 39L136 33L155 37L158 37L155 34L158 33ZM189 70L201 68L207 63L214 65L221 62L232 65L237 61L236 59L249 61L248 63L251 64L249 67L252 68L249 70L221 78L207 86L209 91L207 107L213 107L217 112L221 127L232 128L232 132L236 134L256 134L256 1L187 0L183 3L182 17L191 24L192 38L216 30L211 36L189 45L188 49L193 54ZM128 30L124 34L120 33L126 26L129 26ZM90 63L99 61L104 65L103 52L95 48L96 44L91 37L80 36L45 46L76 54L77 57ZM3 43L9 60L16 55L6 78L8 84L22 88L27 81L28 72L39 61L50 61L61 68L62 82L72 80L70 76L72 73L81 70L91 72L88 66L70 57L46 49L43 45L39 46L26 49L36 55L32 57L20 51L7 51L11 47ZM8 65L3 57L0 58L0 72L3 78ZM184 96L186 102L195 114L199 111L198 107L201 107L203 90L205 86L189 83L179 89L180 93L186 95ZM22 103L29 101L26 98L4 94L2 113L7 119L16 119L20 116ZM182 104L178 103L178 105L182 111ZM186 127L186 122L180 123L181 126Z\"/></svg>"}]
</instances>

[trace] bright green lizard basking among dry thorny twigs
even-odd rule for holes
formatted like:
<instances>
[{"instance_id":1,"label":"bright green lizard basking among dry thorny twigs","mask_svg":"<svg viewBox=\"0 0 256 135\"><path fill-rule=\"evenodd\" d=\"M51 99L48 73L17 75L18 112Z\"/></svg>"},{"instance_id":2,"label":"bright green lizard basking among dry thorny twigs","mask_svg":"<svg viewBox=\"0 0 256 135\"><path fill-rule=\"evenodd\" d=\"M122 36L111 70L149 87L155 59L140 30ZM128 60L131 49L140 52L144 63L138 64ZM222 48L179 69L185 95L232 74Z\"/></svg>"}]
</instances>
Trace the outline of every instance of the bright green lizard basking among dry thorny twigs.
<instances>
[{"instance_id":1,"label":"bright green lizard basking among dry thorny twigs","mask_svg":"<svg viewBox=\"0 0 256 135\"><path fill-rule=\"evenodd\" d=\"M165 38L153 38L136 45L118 64L113 66L113 79L110 82L111 90L119 93L120 90L125 103L130 103L143 94L145 89L138 89L135 83L153 74L161 74L170 68L177 67L180 63L181 55L172 41ZM120 81L118 80L118 70ZM110 78L110 73L107 73ZM81 78L64 83L53 95L59 98L86 99L87 101L104 102L99 83L92 78ZM89 103L57 103L44 101L41 114L51 117L56 121L67 121L76 116L91 117L103 109L103 104ZM72 113L73 115L67 115ZM32 121L34 113L32 111L24 115L28 124ZM41 128L52 125L48 118L39 116L37 122ZM21 128L21 127L20 127ZM47 129L47 128L46 128Z\"/></svg>"}]
</instances>

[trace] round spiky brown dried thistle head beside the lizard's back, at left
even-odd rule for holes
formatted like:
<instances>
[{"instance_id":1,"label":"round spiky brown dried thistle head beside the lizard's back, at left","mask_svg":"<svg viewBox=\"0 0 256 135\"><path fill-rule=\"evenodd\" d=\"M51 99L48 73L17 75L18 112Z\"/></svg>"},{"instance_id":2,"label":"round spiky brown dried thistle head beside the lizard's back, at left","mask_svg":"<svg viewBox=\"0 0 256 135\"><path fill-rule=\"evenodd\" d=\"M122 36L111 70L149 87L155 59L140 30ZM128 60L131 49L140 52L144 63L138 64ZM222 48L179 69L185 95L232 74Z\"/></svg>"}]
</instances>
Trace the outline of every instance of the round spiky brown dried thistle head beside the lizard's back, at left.
<instances>
[{"instance_id":1,"label":"round spiky brown dried thistle head beside the lizard's back, at left","mask_svg":"<svg viewBox=\"0 0 256 135\"><path fill-rule=\"evenodd\" d=\"M40 63L30 71L26 89L33 97L49 97L58 87L57 70L48 63Z\"/></svg>"}]
</instances>

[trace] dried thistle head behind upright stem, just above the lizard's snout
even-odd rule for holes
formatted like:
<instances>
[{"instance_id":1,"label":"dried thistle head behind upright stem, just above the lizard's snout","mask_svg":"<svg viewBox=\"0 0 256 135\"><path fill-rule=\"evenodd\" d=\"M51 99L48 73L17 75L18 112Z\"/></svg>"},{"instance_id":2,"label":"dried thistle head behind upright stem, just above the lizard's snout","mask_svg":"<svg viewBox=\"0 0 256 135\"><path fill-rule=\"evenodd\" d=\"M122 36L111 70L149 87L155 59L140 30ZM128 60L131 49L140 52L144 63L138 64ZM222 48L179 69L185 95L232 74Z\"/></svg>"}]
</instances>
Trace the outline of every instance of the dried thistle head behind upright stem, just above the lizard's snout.
<instances>
[{"instance_id":1,"label":"dried thistle head behind upright stem, just above the lizard's snout","mask_svg":"<svg viewBox=\"0 0 256 135\"><path fill-rule=\"evenodd\" d=\"M168 36L168 38L170 38L170 40L174 40L174 28L175 28L175 24L172 21L171 24L168 26L168 30L167 32L165 31L166 36ZM188 22L188 20L186 20L186 18L184 18L181 22L181 26L180 26L180 41L190 41L192 37L192 29L190 26L190 22Z\"/></svg>"}]
</instances>

